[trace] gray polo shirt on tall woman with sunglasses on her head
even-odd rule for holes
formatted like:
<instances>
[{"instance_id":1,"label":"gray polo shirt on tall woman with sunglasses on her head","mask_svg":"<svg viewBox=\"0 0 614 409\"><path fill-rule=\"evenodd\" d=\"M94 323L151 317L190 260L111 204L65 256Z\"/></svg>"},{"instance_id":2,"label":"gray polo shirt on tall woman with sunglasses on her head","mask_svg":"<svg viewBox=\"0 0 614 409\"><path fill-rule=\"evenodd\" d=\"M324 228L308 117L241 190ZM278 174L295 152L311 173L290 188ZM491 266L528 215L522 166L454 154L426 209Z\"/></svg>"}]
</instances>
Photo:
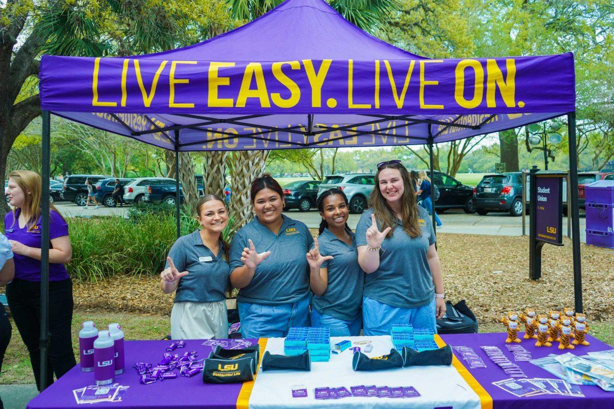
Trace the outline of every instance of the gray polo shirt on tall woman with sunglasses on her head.
<instances>
[{"instance_id":1,"label":"gray polo shirt on tall woman with sunglasses on her head","mask_svg":"<svg viewBox=\"0 0 614 409\"><path fill-rule=\"evenodd\" d=\"M386 237L380 251L379 268L365 275L363 294L392 307L418 308L435 297L427 251L435 243L435 232L429 213L418 207L422 235L410 237L398 221L392 237ZM371 226L373 208L362 213L356 225L356 245L367 245L367 229ZM381 231L381 224L376 221Z\"/></svg>"}]
</instances>

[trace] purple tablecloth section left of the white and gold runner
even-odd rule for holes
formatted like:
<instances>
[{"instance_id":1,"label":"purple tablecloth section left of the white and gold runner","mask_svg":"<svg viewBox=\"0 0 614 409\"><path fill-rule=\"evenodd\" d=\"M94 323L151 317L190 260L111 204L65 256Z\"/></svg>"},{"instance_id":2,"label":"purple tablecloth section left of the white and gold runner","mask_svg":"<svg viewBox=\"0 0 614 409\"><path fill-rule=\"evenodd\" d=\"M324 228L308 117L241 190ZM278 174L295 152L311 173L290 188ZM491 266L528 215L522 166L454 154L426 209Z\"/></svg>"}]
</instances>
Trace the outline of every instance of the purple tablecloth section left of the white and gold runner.
<instances>
[{"instance_id":1,"label":"purple tablecloth section left of the white and gold runner","mask_svg":"<svg viewBox=\"0 0 614 409\"><path fill-rule=\"evenodd\" d=\"M252 340L254 343L255 341ZM205 384L202 373L192 378L177 377L148 385L139 384L139 375L132 365L135 362L157 364L163 358L169 343L171 341L126 341L126 370L122 375L115 377L115 382L130 388L123 396L122 402L99 402L92 408L236 408L236 399L243 384ZM197 351L199 359L208 357L211 347L203 346L202 343L203 340L186 340L185 348L177 349L174 353ZM95 384L93 372L81 372L77 364L49 388L30 400L27 408L79 407L72 390L93 384Z\"/></svg>"}]
</instances>

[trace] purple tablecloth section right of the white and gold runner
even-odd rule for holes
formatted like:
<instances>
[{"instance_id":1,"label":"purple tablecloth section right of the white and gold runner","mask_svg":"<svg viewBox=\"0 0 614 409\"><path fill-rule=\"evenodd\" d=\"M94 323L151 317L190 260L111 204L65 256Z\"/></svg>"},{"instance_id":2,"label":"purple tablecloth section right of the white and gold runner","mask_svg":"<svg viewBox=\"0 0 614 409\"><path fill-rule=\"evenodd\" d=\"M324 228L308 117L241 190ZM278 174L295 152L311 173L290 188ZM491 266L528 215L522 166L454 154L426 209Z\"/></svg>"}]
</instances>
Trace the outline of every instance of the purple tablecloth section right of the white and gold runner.
<instances>
[{"instance_id":1,"label":"purple tablecloth section right of the white and gold runner","mask_svg":"<svg viewBox=\"0 0 614 409\"><path fill-rule=\"evenodd\" d=\"M524 335L521 332L519 335ZM469 369L473 377L486 389L486 392L492 397L493 409L538 409L538 408L564 408L564 409L605 409L614 408L614 392L605 392L599 386L580 386L585 397L569 397L559 395L540 395L533 397L515 397L512 394L503 391L492 382L509 379L503 369L494 364L484 351L480 348L483 345L498 346L503 354L514 361L513 355L505 348L505 337L507 334L455 334L441 335L441 338L452 346L470 346L475 352L480 355L486 364L486 368ZM589 346L576 346L575 350L559 350L558 342L553 342L550 348L537 348L535 340L523 340L522 345L529 351L533 359L541 358L549 354L564 354L571 352L575 355L585 355L587 352L611 350L612 346L597 340L588 335L586 340L591 343ZM454 353L459 358L459 361L465 363L462 357ZM530 362L515 362L521 369L524 370L529 378L556 378L550 372L541 369L540 367L531 364ZM465 365L468 369L468 365Z\"/></svg>"}]
</instances>

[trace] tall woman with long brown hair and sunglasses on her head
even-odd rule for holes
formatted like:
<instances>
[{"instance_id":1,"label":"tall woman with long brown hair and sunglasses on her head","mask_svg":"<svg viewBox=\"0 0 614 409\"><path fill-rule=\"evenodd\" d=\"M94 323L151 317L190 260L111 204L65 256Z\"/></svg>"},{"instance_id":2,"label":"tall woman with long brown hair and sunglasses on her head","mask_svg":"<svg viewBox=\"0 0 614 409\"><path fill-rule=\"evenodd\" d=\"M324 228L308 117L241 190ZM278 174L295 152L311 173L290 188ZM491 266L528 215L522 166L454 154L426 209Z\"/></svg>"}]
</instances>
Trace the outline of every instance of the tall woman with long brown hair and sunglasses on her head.
<instances>
[{"instance_id":1,"label":"tall woman with long brown hair and sunglasses on her head","mask_svg":"<svg viewBox=\"0 0 614 409\"><path fill-rule=\"evenodd\" d=\"M437 331L446 305L435 232L401 161L378 164L371 206L356 226L365 335L390 334L394 323Z\"/></svg>"}]
</instances>

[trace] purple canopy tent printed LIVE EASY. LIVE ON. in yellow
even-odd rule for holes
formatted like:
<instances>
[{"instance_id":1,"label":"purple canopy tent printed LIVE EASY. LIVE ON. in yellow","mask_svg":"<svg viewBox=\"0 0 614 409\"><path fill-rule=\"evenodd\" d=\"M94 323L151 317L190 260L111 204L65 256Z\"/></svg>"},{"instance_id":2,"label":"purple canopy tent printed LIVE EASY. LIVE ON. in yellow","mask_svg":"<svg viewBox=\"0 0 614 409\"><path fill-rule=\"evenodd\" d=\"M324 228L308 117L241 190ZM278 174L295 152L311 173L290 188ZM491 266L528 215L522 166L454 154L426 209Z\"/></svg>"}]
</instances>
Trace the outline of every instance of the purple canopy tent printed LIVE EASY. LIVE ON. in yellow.
<instances>
[{"instance_id":1,"label":"purple canopy tent printed LIVE EASY. LIVE ON. in yellow","mask_svg":"<svg viewBox=\"0 0 614 409\"><path fill-rule=\"evenodd\" d=\"M44 180L49 178L50 113L176 154L428 144L431 171L433 143L567 115L571 185L577 185L571 53L424 58L370 36L323 0L287 0L233 31L168 52L45 55L40 90ZM44 184L44 195L48 189ZM577 189L571 204L575 307L581 311ZM46 201L43 207L41 302L46 305Z\"/></svg>"}]
</instances>

